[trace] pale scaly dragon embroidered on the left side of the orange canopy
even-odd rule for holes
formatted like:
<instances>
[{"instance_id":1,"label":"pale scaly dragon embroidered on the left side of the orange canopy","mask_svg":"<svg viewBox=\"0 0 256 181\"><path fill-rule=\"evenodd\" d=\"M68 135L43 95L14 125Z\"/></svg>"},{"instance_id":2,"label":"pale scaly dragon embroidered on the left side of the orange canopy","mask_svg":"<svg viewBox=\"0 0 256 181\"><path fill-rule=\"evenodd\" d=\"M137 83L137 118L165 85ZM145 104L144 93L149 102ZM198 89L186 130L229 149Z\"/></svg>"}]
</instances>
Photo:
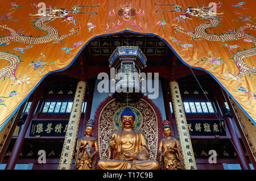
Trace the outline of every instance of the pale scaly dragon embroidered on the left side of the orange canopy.
<instances>
[{"instance_id":1,"label":"pale scaly dragon embroidered on the left side of the orange canopy","mask_svg":"<svg viewBox=\"0 0 256 181\"><path fill-rule=\"evenodd\" d=\"M34 26L40 30L47 31L47 35L42 37L24 36L20 35L10 27L0 25L0 28L9 31L9 36L0 37L0 44L8 44L10 41L16 41L26 44L42 44L53 40L59 42L66 37L79 32L79 28L76 28L75 30L72 30L71 33L59 35L59 31L57 30L57 28L47 24L49 21L56 18L62 18L63 21L72 20L73 16L68 16L68 11L64 9L50 10L47 11L46 14L36 14L32 16L40 16L39 19L36 19ZM48 22L46 23L46 21ZM4 80L6 77L9 77L11 81L15 82L14 85L20 83L30 83L27 81L29 78L27 78L26 75L23 75L25 77L23 79L18 79L15 76L16 69L18 68L18 65L20 63L19 56L16 56L15 54L11 54L9 52L0 52L0 59L9 61L9 65L0 69L0 78L3 78Z\"/></svg>"}]
</instances>

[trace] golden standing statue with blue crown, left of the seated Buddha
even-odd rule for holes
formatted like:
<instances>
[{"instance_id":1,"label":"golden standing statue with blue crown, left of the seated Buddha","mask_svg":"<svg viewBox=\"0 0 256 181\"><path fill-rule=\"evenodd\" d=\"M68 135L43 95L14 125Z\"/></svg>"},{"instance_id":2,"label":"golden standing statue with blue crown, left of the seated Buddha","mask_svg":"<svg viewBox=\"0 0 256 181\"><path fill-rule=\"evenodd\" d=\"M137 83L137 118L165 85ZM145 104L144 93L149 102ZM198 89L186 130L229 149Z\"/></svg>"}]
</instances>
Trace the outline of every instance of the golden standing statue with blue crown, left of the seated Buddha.
<instances>
[{"instance_id":1,"label":"golden standing statue with blue crown, left of the seated Buddha","mask_svg":"<svg viewBox=\"0 0 256 181\"><path fill-rule=\"evenodd\" d=\"M77 139L75 170L93 170L98 153L96 138L92 137L94 120L87 121L85 136ZM94 152L93 152L94 148Z\"/></svg>"}]
</instances>

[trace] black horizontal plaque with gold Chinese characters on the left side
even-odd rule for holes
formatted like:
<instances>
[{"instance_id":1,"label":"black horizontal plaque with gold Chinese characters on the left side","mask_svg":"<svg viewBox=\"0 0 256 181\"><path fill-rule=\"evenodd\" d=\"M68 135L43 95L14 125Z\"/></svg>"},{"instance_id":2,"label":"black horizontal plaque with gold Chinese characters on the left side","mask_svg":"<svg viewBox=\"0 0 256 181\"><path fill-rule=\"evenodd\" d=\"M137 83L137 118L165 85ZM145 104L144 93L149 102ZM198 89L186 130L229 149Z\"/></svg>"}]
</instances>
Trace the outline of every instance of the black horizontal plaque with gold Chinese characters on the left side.
<instances>
[{"instance_id":1,"label":"black horizontal plaque with gold Chinese characters on the left side","mask_svg":"<svg viewBox=\"0 0 256 181\"><path fill-rule=\"evenodd\" d=\"M65 136L68 120L32 120L30 136Z\"/></svg>"}]
</instances>

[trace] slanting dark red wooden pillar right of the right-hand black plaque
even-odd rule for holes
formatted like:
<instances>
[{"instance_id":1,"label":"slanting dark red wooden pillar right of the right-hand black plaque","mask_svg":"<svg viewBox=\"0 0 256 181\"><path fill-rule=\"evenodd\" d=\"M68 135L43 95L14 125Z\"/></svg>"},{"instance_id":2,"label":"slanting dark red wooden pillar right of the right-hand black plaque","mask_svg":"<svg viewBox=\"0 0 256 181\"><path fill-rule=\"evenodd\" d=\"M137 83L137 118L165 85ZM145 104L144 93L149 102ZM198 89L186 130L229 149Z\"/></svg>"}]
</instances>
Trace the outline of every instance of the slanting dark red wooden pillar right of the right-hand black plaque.
<instances>
[{"instance_id":1,"label":"slanting dark red wooden pillar right of the right-hand black plaque","mask_svg":"<svg viewBox=\"0 0 256 181\"><path fill-rule=\"evenodd\" d=\"M216 92L214 92L214 94L215 93ZM243 151L241 142L240 142L240 140L237 136L236 130L234 128L235 125L233 124L232 119L230 119L229 117L226 117L224 115L224 113L222 112L222 110L221 110L221 107L224 107L224 108L226 107L224 99L222 98L221 95L222 95L222 92L219 91L218 94L215 94L214 96L217 100L220 112L222 114L222 117L225 120L226 126L229 129L229 133L230 133L231 140L232 140L232 143L233 143L233 146L234 146L234 150L236 151L236 154L237 154L237 159L240 163L240 166L241 166L242 170L250 170L249 163L247 162L247 158L246 158L245 153Z\"/></svg>"}]
</instances>

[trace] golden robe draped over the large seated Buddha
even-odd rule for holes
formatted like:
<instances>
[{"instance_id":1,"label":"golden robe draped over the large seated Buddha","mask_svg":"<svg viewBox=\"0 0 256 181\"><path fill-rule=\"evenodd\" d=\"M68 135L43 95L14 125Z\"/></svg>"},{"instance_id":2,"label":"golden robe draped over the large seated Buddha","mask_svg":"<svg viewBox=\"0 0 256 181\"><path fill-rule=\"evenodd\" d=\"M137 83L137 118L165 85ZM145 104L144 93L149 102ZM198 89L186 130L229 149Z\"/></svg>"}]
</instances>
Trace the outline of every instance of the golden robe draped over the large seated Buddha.
<instances>
[{"instance_id":1,"label":"golden robe draped over the large seated Buddha","mask_svg":"<svg viewBox=\"0 0 256 181\"><path fill-rule=\"evenodd\" d=\"M134 129L134 138L130 148L122 148L122 129L113 132L111 137L115 138L115 146L109 141L108 159L98 161L98 169L102 170L156 170L159 163L149 159L147 140L141 131ZM110 159L113 151L113 159ZM137 157L133 161L125 160L125 153Z\"/></svg>"}]
</instances>

